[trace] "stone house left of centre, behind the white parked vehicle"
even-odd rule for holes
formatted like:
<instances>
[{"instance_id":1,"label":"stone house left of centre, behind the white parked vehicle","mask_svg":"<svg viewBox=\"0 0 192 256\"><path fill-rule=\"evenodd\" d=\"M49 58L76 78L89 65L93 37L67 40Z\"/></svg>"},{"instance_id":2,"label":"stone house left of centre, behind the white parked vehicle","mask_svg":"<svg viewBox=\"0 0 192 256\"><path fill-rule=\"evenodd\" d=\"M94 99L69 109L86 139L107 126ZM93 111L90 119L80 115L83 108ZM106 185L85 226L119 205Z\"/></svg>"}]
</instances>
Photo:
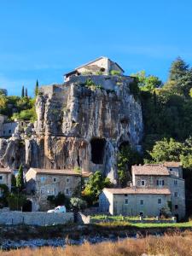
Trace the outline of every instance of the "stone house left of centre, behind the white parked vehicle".
<instances>
[{"instance_id":1,"label":"stone house left of centre, behind the white parked vehicle","mask_svg":"<svg viewBox=\"0 0 192 256\"><path fill-rule=\"evenodd\" d=\"M26 193L32 195L32 210L48 210L49 195L59 192L67 197L79 195L81 189L81 174L73 170L49 170L30 168L26 172Z\"/></svg>"}]
</instances>

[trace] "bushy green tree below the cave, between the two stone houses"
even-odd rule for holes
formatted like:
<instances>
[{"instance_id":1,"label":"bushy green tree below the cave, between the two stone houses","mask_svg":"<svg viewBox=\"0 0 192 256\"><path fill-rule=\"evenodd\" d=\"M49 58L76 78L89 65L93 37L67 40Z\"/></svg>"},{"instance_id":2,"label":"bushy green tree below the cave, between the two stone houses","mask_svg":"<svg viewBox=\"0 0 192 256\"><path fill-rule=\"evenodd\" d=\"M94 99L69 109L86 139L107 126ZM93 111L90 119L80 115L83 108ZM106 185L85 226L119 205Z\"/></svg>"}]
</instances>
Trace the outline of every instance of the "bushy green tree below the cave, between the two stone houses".
<instances>
[{"instance_id":1,"label":"bushy green tree below the cave, between the two stone houses","mask_svg":"<svg viewBox=\"0 0 192 256\"><path fill-rule=\"evenodd\" d=\"M89 205L93 205L98 201L98 197L102 189L109 188L112 184L108 177L103 177L102 172L96 171L91 174L88 182L82 192L83 198Z\"/></svg>"}]
</instances>

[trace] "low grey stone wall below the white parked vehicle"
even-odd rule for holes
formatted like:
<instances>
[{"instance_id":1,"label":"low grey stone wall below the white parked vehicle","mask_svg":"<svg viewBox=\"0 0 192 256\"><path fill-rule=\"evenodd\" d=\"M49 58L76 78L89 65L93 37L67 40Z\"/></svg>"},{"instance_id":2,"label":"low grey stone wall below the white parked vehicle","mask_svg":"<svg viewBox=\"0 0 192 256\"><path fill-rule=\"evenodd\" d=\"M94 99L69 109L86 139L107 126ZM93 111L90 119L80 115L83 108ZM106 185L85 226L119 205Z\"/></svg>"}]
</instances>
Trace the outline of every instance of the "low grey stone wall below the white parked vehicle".
<instances>
[{"instance_id":1,"label":"low grey stone wall below the white parked vehicle","mask_svg":"<svg viewBox=\"0 0 192 256\"><path fill-rule=\"evenodd\" d=\"M0 212L0 224L53 225L73 222L73 212Z\"/></svg>"}]
</instances>

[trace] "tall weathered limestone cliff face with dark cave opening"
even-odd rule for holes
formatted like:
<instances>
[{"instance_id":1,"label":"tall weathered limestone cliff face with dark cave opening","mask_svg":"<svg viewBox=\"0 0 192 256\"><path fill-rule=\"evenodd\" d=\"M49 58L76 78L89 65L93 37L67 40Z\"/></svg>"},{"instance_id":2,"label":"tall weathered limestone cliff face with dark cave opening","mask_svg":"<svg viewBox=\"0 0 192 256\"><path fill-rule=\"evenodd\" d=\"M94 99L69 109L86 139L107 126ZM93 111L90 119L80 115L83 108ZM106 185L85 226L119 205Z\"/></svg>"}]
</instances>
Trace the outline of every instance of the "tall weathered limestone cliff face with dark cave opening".
<instances>
[{"instance_id":1,"label":"tall weathered limestone cliff face with dark cave opening","mask_svg":"<svg viewBox=\"0 0 192 256\"><path fill-rule=\"evenodd\" d=\"M91 75L42 87L32 135L21 135L22 157L18 160L15 155L18 137L2 139L1 163L17 167L22 161L26 167L53 169L79 166L86 172L101 170L115 182L120 145L141 149L142 107L130 92L132 81L125 76Z\"/></svg>"}]
</instances>

